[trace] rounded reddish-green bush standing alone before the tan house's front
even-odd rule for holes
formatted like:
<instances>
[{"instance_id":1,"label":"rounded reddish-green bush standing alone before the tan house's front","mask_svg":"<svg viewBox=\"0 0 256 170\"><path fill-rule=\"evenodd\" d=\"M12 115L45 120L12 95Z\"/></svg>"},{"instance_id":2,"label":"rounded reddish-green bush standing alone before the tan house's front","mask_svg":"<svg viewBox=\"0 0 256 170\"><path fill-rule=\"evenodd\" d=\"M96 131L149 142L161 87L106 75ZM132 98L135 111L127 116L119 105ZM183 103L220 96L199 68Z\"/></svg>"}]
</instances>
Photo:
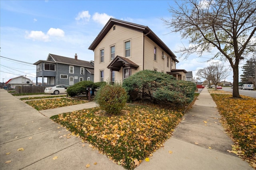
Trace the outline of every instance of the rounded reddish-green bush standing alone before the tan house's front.
<instances>
[{"instance_id":1,"label":"rounded reddish-green bush standing alone before the tan house's front","mask_svg":"<svg viewBox=\"0 0 256 170\"><path fill-rule=\"evenodd\" d=\"M127 93L121 85L105 85L96 95L96 103L108 114L118 115L127 101Z\"/></svg>"}]
</instances>

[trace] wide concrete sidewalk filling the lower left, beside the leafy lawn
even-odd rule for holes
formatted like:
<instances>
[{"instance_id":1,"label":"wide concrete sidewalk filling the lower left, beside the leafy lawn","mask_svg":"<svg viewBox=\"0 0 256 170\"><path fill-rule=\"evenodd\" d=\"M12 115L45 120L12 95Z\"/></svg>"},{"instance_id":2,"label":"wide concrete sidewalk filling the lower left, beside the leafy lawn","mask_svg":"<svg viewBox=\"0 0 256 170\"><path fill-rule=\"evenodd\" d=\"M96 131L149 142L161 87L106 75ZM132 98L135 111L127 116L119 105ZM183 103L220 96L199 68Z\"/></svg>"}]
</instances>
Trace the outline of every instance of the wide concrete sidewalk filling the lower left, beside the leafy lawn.
<instances>
[{"instance_id":1,"label":"wide concrete sidewalk filling the lower left, beside the leafy lawn","mask_svg":"<svg viewBox=\"0 0 256 170\"><path fill-rule=\"evenodd\" d=\"M64 127L0 89L1 170L83 170L87 164L92 170L124 169L68 134L71 132ZM53 160L55 156L58 158Z\"/></svg>"}]
</instances>

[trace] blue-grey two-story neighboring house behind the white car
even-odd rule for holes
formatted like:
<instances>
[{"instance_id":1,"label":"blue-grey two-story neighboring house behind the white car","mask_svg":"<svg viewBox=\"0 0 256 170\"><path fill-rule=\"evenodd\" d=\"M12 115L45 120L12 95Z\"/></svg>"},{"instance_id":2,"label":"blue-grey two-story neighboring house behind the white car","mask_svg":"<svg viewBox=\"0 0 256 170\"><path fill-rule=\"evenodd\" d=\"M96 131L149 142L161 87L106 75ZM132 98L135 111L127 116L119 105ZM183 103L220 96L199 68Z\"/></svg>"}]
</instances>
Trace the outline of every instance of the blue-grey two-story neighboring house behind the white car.
<instances>
[{"instance_id":1,"label":"blue-grey two-story neighboring house behind the white car","mask_svg":"<svg viewBox=\"0 0 256 170\"><path fill-rule=\"evenodd\" d=\"M94 81L94 61L84 61L60 55L49 54L46 60L39 60L36 65L36 85L42 77L42 85L47 78L47 85L74 85L79 81Z\"/></svg>"}]
</instances>

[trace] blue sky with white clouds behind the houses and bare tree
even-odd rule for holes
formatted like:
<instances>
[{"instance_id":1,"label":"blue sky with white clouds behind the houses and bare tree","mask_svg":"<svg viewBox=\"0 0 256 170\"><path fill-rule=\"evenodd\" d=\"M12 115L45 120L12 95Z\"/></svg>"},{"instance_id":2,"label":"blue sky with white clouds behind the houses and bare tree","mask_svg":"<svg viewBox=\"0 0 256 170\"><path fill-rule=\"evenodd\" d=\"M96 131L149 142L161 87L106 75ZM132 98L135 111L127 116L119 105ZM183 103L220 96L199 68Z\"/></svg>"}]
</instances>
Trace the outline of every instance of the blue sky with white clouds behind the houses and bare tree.
<instances>
[{"instance_id":1,"label":"blue sky with white clouds behind the houses and bare tree","mask_svg":"<svg viewBox=\"0 0 256 170\"><path fill-rule=\"evenodd\" d=\"M36 82L36 65L29 63L46 60L49 53L65 57L77 53L78 59L94 60L88 47L110 18L148 26L177 56L177 69L193 71L196 77L196 71L207 67L204 61L216 51L206 53L205 58L196 54L187 60L180 58L175 51L189 44L180 34L170 34L160 19L171 18L169 5L174 1L0 0L0 82L20 75ZM226 81L233 81L231 69Z\"/></svg>"}]
</instances>

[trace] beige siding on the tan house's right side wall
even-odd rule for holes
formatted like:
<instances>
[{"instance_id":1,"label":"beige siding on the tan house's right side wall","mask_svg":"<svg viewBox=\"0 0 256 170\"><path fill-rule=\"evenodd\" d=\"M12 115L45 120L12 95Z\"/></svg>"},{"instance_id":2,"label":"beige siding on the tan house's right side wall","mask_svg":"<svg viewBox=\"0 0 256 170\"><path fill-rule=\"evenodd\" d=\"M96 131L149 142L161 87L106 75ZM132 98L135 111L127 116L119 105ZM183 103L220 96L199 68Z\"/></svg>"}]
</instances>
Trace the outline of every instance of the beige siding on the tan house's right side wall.
<instances>
[{"instance_id":1,"label":"beige siding on the tan house's right side wall","mask_svg":"<svg viewBox=\"0 0 256 170\"><path fill-rule=\"evenodd\" d=\"M144 46L144 69L154 70L156 69L159 72L169 72L171 70L171 61L170 56L164 51L166 55L165 59L162 59L162 49L156 45L150 38L145 37L145 46ZM156 60L154 60L154 47L156 47ZM169 67L167 67L167 57L169 57ZM175 65L175 61L173 61ZM173 67L172 67L173 69Z\"/></svg>"}]
</instances>

